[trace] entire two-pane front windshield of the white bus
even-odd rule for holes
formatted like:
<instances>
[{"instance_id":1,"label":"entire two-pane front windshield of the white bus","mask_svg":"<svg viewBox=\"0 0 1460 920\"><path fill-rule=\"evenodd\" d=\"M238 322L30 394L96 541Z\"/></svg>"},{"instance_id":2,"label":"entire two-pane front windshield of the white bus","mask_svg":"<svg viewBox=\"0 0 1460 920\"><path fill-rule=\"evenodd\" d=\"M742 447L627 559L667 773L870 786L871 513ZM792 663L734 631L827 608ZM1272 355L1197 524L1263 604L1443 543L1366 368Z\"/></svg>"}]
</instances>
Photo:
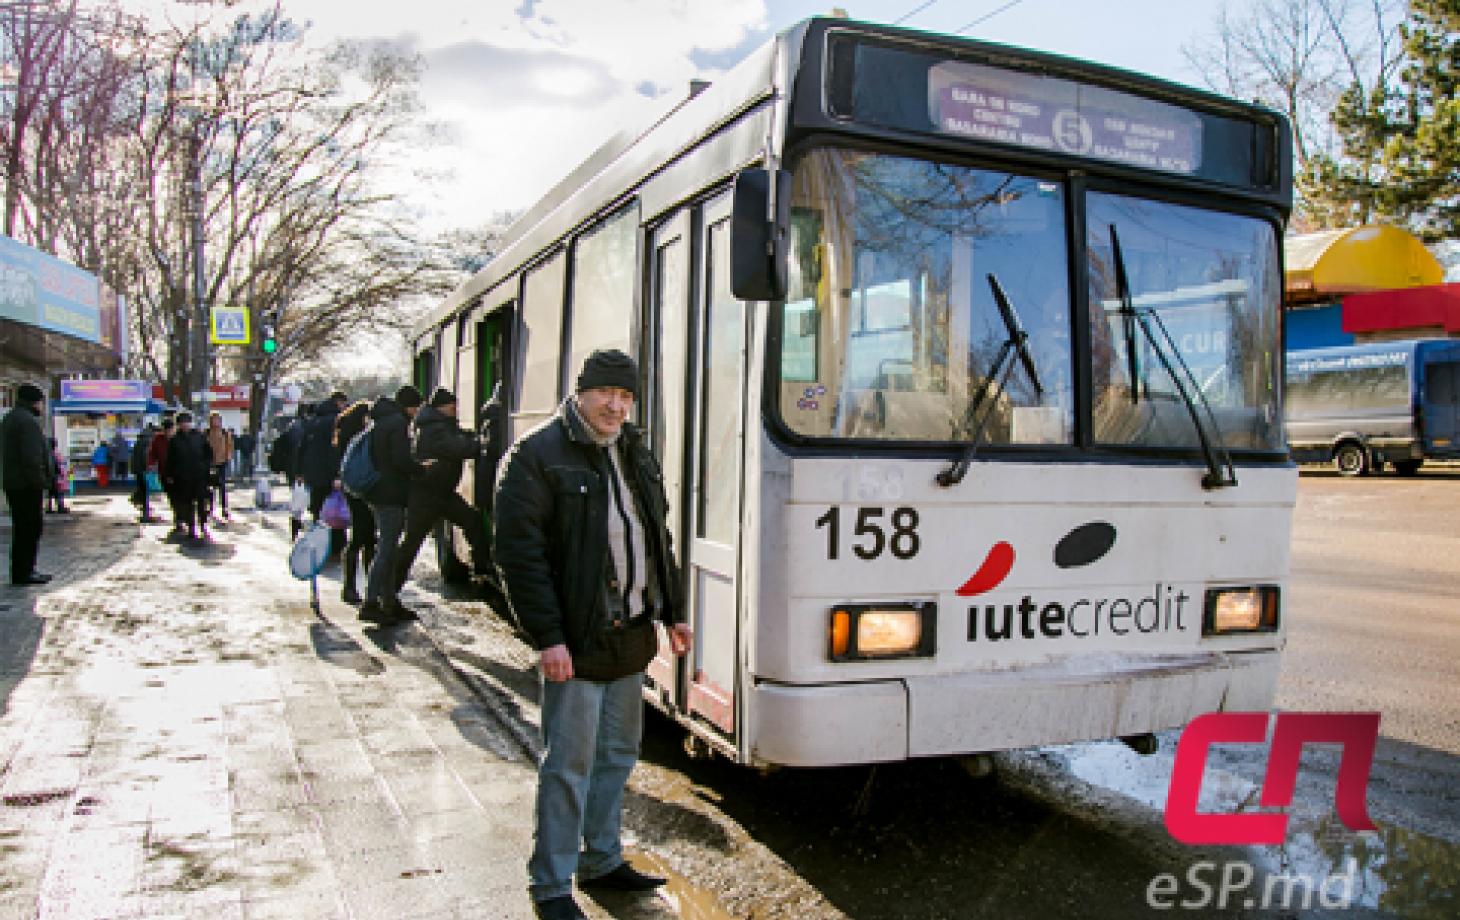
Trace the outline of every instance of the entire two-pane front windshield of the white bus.
<instances>
[{"instance_id":1,"label":"entire two-pane front windshield of the white bus","mask_svg":"<svg viewBox=\"0 0 1460 920\"><path fill-rule=\"evenodd\" d=\"M975 437L971 416L987 410L981 444L1073 444L1066 196L1058 180L885 153L802 158L780 323L785 425L809 438L958 442ZM1186 362L1212 407L1210 437L1228 450L1283 450L1273 226L1110 193L1088 193L1085 206L1094 441L1199 444L1150 342L1137 340L1140 380L1127 380L1115 225L1133 307L1169 333L1162 348ZM1022 367L1003 386L990 378L1009 337L990 276L1028 331L1042 388Z\"/></svg>"}]
</instances>

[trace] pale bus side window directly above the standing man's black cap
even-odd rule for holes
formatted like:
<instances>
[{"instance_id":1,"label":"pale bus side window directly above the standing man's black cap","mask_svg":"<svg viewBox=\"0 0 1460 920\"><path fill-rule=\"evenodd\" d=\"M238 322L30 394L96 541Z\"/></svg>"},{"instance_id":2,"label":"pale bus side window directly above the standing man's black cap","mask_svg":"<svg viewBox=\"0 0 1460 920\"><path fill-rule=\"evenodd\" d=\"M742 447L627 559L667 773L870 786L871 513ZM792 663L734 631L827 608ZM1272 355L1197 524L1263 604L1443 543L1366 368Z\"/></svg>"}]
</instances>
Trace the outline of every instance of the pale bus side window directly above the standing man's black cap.
<instances>
[{"instance_id":1,"label":"pale bus side window directly above the standing man's black cap","mask_svg":"<svg viewBox=\"0 0 1460 920\"><path fill-rule=\"evenodd\" d=\"M588 352L629 352L634 323L634 267L638 264L638 207L620 210L572 250L572 336L568 378L577 377Z\"/></svg>"}]
</instances>

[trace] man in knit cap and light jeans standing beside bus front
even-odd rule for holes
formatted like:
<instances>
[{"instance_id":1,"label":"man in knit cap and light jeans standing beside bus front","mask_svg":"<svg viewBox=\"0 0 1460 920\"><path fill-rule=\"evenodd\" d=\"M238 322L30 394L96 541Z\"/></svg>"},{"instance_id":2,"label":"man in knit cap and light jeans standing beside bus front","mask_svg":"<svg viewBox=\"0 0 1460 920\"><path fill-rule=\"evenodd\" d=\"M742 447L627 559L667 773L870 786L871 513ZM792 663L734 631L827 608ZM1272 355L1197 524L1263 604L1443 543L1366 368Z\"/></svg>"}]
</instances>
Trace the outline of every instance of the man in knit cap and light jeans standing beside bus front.
<instances>
[{"instance_id":1,"label":"man in knit cap and light jeans standing beside bus front","mask_svg":"<svg viewBox=\"0 0 1460 920\"><path fill-rule=\"evenodd\" d=\"M638 387L628 355L593 352L574 396L512 445L498 476L496 567L540 651L543 758L527 876L543 919L583 917L574 875L584 888L664 883L629 866L619 841L654 622L676 656L692 641L663 476L628 422Z\"/></svg>"}]
</instances>

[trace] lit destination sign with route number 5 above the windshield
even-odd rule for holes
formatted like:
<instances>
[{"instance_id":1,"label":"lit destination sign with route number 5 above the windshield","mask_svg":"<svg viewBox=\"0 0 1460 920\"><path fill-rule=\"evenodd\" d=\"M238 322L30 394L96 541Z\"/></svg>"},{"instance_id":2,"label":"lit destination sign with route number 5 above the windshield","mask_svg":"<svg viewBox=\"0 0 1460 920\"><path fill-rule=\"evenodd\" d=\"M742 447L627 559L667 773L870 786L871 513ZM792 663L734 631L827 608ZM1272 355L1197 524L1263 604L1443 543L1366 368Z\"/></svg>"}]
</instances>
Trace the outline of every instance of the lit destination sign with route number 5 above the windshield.
<instances>
[{"instance_id":1,"label":"lit destination sign with route number 5 above the windshield","mask_svg":"<svg viewBox=\"0 0 1460 920\"><path fill-rule=\"evenodd\" d=\"M1102 86L945 61L929 72L929 108L949 134L1165 172L1202 166L1196 112Z\"/></svg>"}]
</instances>

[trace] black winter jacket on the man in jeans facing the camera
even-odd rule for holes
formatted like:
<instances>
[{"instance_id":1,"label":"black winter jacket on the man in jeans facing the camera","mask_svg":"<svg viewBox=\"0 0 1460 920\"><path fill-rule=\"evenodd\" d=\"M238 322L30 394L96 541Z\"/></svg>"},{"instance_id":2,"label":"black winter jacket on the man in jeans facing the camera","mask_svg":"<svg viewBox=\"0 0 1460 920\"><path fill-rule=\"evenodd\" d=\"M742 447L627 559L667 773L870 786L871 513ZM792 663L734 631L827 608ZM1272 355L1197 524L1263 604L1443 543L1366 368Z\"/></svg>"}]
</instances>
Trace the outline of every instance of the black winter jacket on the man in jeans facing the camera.
<instances>
[{"instance_id":1,"label":"black winter jacket on the man in jeans facing the camera","mask_svg":"<svg viewBox=\"0 0 1460 920\"><path fill-rule=\"evenodd\" d=\"M664 476L632 423L623 423L618 448L644 549L657 567L663 599L656 613L664 625L685 622ZM583 654L604 629L612 475L606 448L593 442L568 400L502 460L492 549L512 613L537 648L566 644Z\"/></svg>"}]
</instances>

